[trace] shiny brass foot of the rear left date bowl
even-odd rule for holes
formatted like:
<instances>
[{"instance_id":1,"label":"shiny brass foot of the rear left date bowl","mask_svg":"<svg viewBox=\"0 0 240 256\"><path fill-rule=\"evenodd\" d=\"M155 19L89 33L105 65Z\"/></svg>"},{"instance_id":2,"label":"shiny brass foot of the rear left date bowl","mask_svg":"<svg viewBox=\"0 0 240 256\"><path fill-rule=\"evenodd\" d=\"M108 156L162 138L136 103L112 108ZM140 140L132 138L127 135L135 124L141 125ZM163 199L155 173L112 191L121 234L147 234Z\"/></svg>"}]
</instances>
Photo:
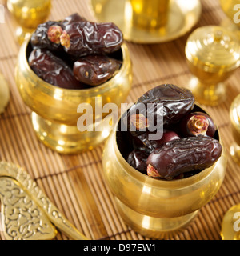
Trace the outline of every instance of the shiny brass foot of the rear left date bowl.
<instances>
[{"instance_id":1,"label":"shiny brass foot of the rear left date bowl","mask_svg":"<svg viewBox=\"0 0 240 256\"><path fill-rule=\"evenodd\" d=\"M32 112L32 124L39 140L50 149L61 154L77 154L92 150L110 134L110 129L102 131L79 131L76 126L66 126L52 122Z\"/></svg>"}]
</instances>

